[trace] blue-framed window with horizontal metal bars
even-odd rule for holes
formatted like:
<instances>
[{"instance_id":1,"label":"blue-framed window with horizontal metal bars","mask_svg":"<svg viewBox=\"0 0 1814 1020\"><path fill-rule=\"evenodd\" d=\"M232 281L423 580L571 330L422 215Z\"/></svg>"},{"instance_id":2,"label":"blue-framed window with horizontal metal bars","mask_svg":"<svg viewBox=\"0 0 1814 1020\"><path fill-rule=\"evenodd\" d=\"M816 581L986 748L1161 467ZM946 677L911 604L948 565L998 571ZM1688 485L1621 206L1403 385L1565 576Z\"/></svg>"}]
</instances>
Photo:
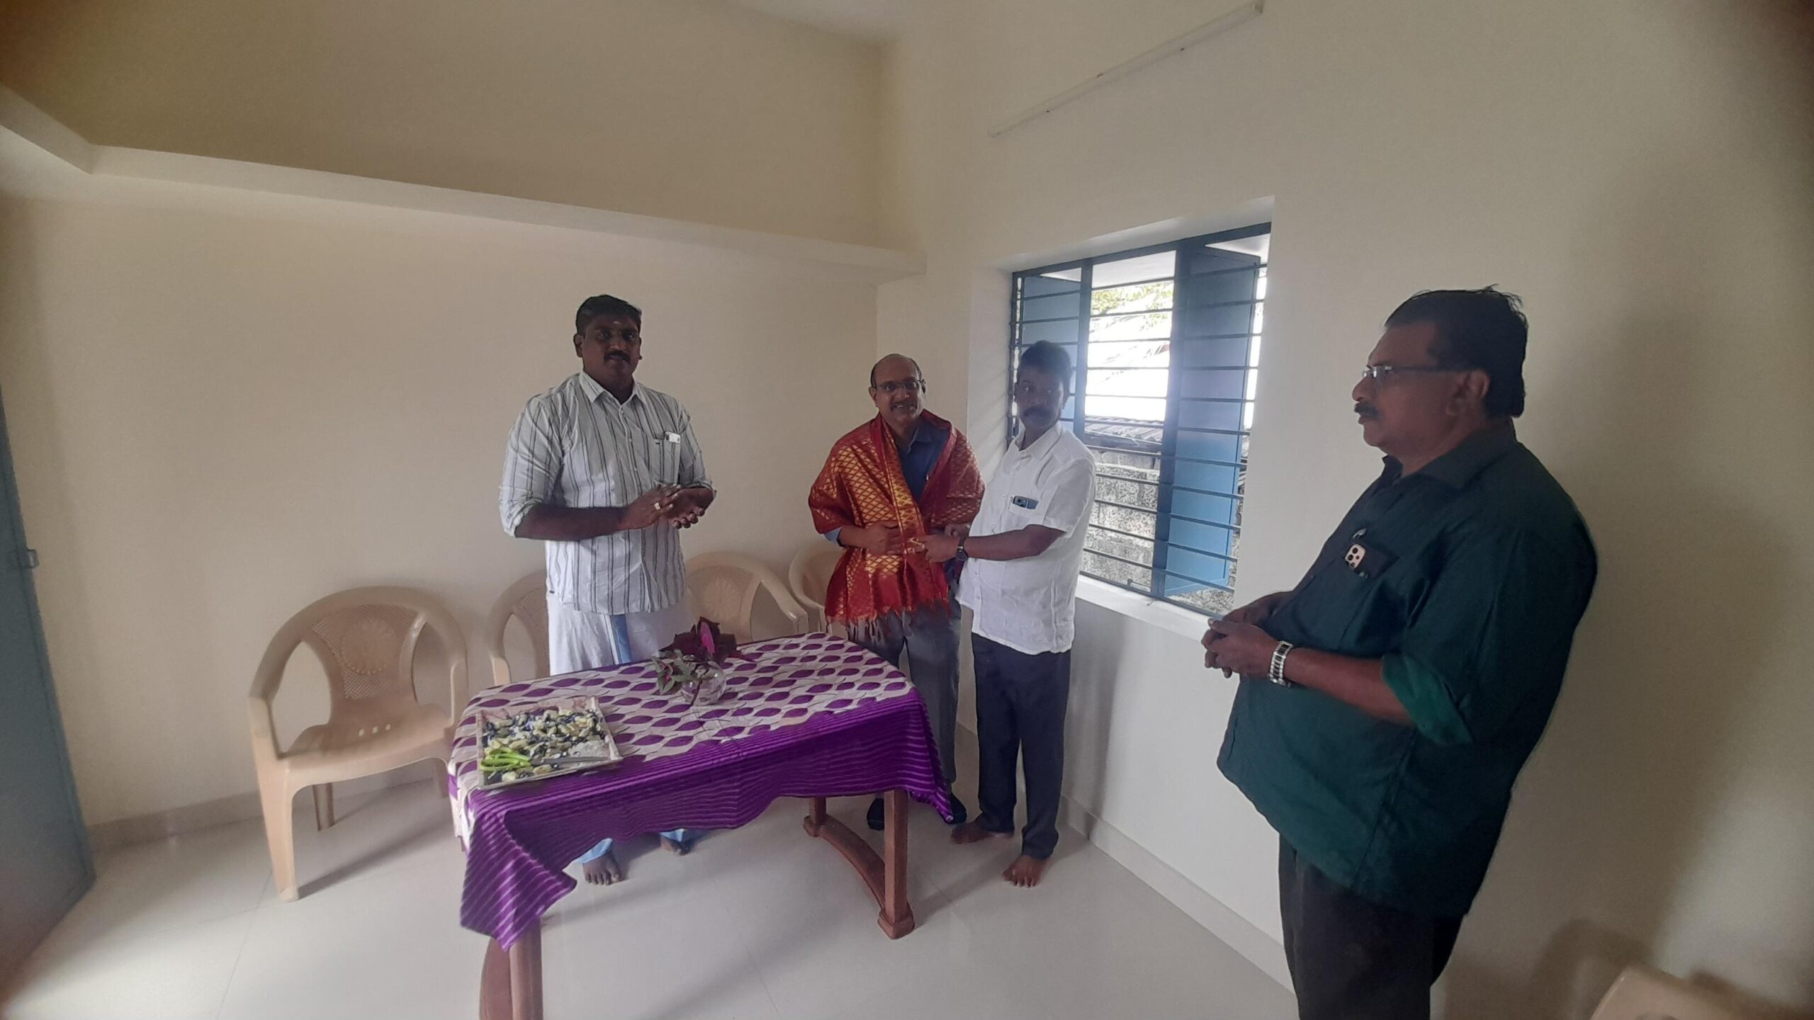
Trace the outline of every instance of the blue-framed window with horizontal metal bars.
<instances>
[{"instance_id":1,"label":"blue-framed window with horizontal metal bars","mask_svg":"<svg viewBox=\"0 0 1814 1020\"><path fill-rule=\"evenodd\" d=\"M1025 345L1078 370L1059 428L1096 454L1083 574L1234 608L1270 241L1261 223L1014 274L1010 412Z\"/></svg>"}]
</instances>

